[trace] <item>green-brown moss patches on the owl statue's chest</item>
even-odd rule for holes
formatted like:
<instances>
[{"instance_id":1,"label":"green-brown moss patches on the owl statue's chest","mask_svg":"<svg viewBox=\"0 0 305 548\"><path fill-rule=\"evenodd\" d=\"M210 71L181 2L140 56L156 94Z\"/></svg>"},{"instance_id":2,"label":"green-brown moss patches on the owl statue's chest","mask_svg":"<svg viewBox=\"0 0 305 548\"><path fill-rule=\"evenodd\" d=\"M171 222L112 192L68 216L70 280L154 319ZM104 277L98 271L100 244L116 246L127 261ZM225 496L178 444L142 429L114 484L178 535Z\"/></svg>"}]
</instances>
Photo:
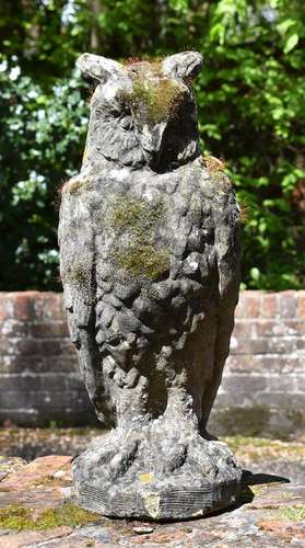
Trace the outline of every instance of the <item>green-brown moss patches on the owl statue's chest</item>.
<instances>
[{"instance_id":1,"label":"green-brown moss patches on the owl statue's chest","mask_svg":"<svg viewBox=\"0 0 305 548\"><path fill-rule=\"evenodd\" d=\"M113 252L116 267L130 276L159 278L169 269L169 251L157 247L154 233L165 214L161 201L118 196L109 214L108 226L117 237L127 236Z\"/></svg>"}]
</instances>

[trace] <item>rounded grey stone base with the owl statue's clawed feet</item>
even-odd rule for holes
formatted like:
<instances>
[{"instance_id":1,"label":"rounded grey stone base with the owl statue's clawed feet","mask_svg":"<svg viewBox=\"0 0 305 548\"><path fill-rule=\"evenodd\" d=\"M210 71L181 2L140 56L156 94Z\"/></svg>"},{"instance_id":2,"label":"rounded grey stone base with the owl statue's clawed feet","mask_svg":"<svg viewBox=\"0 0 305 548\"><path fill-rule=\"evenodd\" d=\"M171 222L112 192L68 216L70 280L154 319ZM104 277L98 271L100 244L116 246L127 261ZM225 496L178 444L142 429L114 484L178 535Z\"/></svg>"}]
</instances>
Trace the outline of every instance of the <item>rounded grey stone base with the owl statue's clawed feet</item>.
<instances>
[{"instance_id":1,"label":"rounded grey stone base with the owl statue's clawed feet","mask_svg":"<svg viewBox=\"0 0 305 548\"><path fill-rule=\"evenodd\" d=\"M172 430L171 430L172 427ZM73 461L79 504L108 517L187 520L236 503L242 469L225 444L153 421L116 429Z\"/></svg>"}]
</instances>

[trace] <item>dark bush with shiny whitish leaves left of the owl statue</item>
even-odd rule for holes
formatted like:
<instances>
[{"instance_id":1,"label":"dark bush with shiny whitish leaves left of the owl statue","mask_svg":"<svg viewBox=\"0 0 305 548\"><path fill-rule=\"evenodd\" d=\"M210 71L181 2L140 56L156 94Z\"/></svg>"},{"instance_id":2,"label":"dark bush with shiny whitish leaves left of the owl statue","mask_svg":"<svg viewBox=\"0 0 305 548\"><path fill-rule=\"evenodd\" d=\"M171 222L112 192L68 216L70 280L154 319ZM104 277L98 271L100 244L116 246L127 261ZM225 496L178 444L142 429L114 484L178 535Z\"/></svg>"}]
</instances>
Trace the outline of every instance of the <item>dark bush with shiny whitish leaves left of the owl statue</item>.
<instances>
[{"instance_id":1,"label":"dark bush with shiny whitish leaves left of the owl statue","mask_svg":"<svg viewBox=\"0 0 305 548\"><path fill-rule=\"evenodd\" d=\"M48 94L0 65L1 288L59 289L57 190L78 171L87 105L75 76Z\"/></svg>"}]
</instances>

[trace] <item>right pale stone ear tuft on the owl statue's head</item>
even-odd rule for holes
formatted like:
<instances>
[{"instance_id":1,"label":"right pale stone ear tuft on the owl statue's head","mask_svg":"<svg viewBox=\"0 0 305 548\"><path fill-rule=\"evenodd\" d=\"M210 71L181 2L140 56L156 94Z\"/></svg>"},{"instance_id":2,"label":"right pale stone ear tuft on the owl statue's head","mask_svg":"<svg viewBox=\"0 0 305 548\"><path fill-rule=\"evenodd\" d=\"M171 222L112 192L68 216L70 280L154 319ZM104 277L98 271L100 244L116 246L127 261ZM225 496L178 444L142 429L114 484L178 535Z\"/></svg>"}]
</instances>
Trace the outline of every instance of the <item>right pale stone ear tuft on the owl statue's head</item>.
<instances>
[{"instance_id":1,"label":"right pale stone ear tuft on the owl statue's head","mask_svg":"<svg viewBox=\"0 0 305 548\"><path fill-rule=\"evenodd\" d=\"M199 52L184 52L164 59L163 71L174 78L185 80L195 78L202 67L202 55Z\"/></svg>"}]
</instances>

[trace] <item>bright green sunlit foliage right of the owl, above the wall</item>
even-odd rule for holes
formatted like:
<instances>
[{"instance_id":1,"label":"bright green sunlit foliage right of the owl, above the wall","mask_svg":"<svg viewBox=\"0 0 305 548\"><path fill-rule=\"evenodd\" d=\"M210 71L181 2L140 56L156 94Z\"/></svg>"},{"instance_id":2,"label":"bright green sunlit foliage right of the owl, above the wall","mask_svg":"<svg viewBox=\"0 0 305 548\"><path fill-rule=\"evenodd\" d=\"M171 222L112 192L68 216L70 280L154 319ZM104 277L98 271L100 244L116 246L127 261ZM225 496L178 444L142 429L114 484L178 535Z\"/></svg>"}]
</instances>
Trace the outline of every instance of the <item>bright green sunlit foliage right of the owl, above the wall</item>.
<instances>
[{"instance_id":1,"label":"bright green sunlit foliage right of the owl, above the wall","mask_svg":"<svg viewBox=\"0 0 305 548\"><path fill-rule=\"evenodd\" d=\"M304 7L279 0L266 10L246 0L222 0L212 10L204 50L211 56L213 49L213 57L197 83L200 129L203 147L225 158L248 209L244 285L297 288L305 261L304 220L294 199L305 176L305 81L292 36L304 37Z\"/></svg>"}]
</instances>

